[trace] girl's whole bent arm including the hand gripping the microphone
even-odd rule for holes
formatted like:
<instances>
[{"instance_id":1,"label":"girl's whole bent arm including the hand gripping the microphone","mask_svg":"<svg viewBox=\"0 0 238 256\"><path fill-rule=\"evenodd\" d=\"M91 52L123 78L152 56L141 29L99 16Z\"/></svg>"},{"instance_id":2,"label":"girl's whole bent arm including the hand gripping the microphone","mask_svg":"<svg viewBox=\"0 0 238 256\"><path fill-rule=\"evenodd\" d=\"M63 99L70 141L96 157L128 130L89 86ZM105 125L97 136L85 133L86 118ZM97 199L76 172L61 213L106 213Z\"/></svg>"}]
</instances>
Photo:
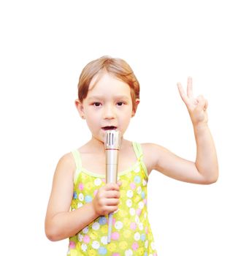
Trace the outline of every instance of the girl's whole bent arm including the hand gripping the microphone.
<instances>
[{"instance_id":1,"label":"girl's whole bent arm including the hand gripping the microphone","mask_svg":"<svg viewBox=\"0 0 238 256\"><path fill-rule=\"evenodd\" d=\"M69 211L73 197L74 162L70 154L60 159L53 178L53 187L45 217L45 233L51 241L74 236L97 217L118 209L119 186L101 187L91 203Z\"/></svg>"}]
</instances>

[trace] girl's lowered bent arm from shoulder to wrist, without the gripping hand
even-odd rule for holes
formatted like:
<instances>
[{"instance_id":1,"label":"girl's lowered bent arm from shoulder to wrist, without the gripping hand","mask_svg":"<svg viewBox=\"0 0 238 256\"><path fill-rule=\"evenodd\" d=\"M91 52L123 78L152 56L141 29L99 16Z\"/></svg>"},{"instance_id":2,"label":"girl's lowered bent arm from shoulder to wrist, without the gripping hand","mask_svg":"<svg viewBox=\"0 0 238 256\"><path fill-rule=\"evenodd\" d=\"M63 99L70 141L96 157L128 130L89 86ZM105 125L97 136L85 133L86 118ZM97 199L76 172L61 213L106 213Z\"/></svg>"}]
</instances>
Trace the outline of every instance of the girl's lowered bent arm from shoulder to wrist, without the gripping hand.
<instances>
[{"instance_id":1,"label":"girl's lowered bent arm from shoulder to wrist, without the gripping hand","mask_svg":"<svg viewBox=\"0 0 238 256\"><path fill-rule=\"evenodd\" d=\"M92 203L69 211L74 189L74 168L72 157L67 154L59 160L55 170L45 217L45 233L52 241L74 236L97 217Z\"/></svg>"}]
</instances>

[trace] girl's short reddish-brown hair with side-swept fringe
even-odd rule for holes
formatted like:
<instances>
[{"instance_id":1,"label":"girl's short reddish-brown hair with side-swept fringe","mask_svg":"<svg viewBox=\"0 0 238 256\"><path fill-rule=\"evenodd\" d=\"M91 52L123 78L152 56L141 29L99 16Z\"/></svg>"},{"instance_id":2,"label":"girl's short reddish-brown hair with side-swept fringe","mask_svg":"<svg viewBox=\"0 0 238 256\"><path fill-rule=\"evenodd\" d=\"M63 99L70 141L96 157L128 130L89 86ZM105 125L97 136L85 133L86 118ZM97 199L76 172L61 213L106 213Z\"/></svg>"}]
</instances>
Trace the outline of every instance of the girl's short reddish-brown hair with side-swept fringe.
<instances>
[{"instance_id":1,"label":"girl's short reddish-brown hair with side-swept fringe","mask_svg":"<svg viewBox=\"0 0 238 256\"><path fill-rule=\"evenodd\" d=\"M87 97L88 87L93 77L101 71L115 75L116 78L123 80L123 82L130 86L133 110L136 111L136 99L139 99L139 82L126 61L123 59L112 58L110 56L102 56L99 59L95 59L89 62L84 69L82 69L77 86L80 102Z\"/></svg>"}]
</instances>

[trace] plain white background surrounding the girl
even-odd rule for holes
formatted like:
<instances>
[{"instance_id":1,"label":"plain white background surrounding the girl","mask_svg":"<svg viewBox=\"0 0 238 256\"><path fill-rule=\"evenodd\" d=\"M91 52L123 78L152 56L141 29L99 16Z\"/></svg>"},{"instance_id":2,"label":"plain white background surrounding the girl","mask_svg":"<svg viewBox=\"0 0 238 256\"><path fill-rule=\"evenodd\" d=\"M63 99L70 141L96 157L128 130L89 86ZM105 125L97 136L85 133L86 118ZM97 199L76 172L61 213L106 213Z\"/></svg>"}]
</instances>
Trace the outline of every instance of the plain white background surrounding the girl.
<instances>
[{"instance_id":1,"label":"plain white background surrounding the girl","mask_svg":"<svg viewBox=\"0 0 238 256\"><path fill-rule=\"evenodd\" d=\"M176 83L193 77L209 101L220 177L185 184L153 171L148 208L158 255L238 255L235 1L1 1L1 252L66 255L45 237L58 159L90 134L74 108L82 68L103 55L128 61L141 103L126 138L194 160Z\"/></svg>"}]
</instances>

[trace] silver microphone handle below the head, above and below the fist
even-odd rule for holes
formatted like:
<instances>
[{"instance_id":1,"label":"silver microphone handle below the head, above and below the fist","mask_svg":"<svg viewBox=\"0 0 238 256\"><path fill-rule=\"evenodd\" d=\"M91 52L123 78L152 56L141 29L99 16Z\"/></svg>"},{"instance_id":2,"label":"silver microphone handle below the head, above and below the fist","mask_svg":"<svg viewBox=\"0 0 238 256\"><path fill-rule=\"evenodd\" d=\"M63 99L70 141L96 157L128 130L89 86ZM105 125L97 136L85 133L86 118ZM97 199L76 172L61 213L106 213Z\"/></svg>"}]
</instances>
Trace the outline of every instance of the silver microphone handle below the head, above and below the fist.
<instances>
[{"instance_id":1,"label":"silver microphone handle below the head, above and below the fist","mask_svg":"<svg viewBox=\"0 0 238 256\"><path fill-rule=\"evenodd\" d=\"M118 181L118 150L106 150L106 182L117 183ZM107 243L109 244L112 236L112 214L108 214L108 234Z\"/></svg>"}]
</instances>

